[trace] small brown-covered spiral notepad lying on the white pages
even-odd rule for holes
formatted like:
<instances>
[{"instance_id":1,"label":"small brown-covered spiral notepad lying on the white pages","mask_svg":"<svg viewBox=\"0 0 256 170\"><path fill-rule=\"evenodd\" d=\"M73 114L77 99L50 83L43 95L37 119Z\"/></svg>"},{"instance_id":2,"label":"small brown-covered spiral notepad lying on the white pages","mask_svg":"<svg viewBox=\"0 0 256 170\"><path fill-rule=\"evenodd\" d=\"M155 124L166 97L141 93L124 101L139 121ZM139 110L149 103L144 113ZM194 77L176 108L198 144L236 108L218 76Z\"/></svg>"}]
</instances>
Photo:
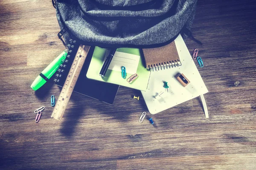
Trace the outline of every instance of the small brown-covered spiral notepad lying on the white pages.
<instances>
[{"instance_id":1,"label":"small brown-covered spiral notepad lying on the white pages","mask_svg":"<svg viewBox=\"0 0 256 170\"><path fill-rule=\"evenodd\" d=\"M175 42L157 48L144 48L146 68L172 68L181 65Z\"/></svg>"}]
</instances>

